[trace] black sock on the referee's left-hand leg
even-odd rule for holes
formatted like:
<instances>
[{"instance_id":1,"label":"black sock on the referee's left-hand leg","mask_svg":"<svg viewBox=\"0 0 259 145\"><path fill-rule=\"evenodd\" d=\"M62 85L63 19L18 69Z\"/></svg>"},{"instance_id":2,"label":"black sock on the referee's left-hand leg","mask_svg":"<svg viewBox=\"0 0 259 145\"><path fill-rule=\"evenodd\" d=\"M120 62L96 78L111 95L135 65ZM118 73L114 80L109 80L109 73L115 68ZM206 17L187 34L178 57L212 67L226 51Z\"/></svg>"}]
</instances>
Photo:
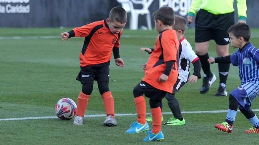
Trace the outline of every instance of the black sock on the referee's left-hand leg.
<instances>
[{"instance_id":1,"label":"black sock on the referee's left-hand leg","mask_svg":"<svg viewBox=\"0 0 259 145\"><path fill-rule=\"evenodd\" d=\"M196 54L199 59L200 59L200 63L201 63L201 68L204 72L204 74L206 74L206 77L207 78L210 78L212 77L212 73L210 71L210 64L208 62L208 59L209 59L209 54L206 53L205 55L198 55Z\"/></svg>"}]
</instances>

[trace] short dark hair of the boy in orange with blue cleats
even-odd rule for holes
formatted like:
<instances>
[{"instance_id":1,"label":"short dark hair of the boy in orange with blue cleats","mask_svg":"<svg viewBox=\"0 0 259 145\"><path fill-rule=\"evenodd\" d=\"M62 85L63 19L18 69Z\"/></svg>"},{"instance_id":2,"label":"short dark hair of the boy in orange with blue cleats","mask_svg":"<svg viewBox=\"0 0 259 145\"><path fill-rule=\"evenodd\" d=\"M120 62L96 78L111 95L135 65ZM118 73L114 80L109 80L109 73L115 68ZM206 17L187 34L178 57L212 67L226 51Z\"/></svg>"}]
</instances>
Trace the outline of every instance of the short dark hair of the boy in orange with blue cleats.
<instances>
[{"instance_id":1,"label":"short dark hair of the boy in orange with blue cleats","mask_svg":"<svg viewBox=\"0 0 259 145\"><path fill-rule=\"evenodd\" d=\"M174 10L169 6L162 6L153 13L155 21L160 20L164 25L172 26L175 21Z\"/></svg>"}]
</instances>

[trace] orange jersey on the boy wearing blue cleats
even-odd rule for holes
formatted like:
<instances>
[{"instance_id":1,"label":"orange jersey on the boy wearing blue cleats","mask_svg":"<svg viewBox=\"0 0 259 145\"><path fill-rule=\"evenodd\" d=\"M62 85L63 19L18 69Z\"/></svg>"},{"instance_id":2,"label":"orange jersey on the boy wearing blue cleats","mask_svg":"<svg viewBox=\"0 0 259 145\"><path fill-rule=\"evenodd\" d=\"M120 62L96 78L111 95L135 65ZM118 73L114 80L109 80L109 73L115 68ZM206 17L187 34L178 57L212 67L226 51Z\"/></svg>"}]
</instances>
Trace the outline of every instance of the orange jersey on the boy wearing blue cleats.
<instances>
[{"instance_id":1,"label":"orange jersey on the boy wearing blue cleats","mask_svg":"<svg viewBox=\"0 0 259 145\"><path fill-rule=\"evenodd\" d=\"M178 53L179 42L175 30L167 29L162 31L156 39L155 50L150 55L145 75L142 81L151 86L172 93L173 86L178 77ZM158 79L165 71L167 61L175 61L166 82L159 82Z\"/></svg>"}]
</instances>

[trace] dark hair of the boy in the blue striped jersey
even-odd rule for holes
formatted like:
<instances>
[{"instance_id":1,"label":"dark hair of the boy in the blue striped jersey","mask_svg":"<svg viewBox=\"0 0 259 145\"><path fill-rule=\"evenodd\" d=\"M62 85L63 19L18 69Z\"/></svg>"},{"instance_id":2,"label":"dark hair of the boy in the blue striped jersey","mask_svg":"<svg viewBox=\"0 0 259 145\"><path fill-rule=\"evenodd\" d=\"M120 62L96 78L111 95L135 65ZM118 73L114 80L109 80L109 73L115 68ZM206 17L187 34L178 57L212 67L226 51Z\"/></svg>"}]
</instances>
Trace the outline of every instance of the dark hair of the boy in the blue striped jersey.
<instances>
[{"instance_id":1,"label":"dark hair of the boy in the blue striped jersey","mask_svg":"<svg viewBox=\"0 0 259 145\"><path fill-rule=\"evenodd\" d=\"M228 33L233 33L235 37L243 37L245 42L249 42L251 30L246 23L237 23L228 29Z\"/></svg>"}]
</instances>

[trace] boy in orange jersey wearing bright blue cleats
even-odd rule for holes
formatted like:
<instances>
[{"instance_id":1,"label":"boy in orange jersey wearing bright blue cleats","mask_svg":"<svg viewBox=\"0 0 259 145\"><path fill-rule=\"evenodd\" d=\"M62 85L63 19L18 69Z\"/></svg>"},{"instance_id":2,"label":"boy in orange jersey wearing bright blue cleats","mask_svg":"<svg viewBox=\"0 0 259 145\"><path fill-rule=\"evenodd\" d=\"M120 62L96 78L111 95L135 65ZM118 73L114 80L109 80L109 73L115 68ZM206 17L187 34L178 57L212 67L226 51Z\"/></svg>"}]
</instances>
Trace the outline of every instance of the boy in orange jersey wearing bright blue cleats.
<instances>
[{"instance_id":1,"label":"boy in orange jersey wearing bright blue cleats","mask_svg":"<svg viewBox=\"0 0 259 145\"><path fill-rule=\"evenodd\" d=\"M153 13L155 28L159 35L155 42L155 50L150 55L145 69L144 78L133 89L137 109L137 122L133 122L126 131L136 134L149 129L146 122L146 101L150 98L153 129L143 141L160 141L164 139L161 131L162 112L160 103L166 93L171 93L178 75L179 42L172 25L175 22L174 11L163 6Z\"/></svg>"}]
</instances>

